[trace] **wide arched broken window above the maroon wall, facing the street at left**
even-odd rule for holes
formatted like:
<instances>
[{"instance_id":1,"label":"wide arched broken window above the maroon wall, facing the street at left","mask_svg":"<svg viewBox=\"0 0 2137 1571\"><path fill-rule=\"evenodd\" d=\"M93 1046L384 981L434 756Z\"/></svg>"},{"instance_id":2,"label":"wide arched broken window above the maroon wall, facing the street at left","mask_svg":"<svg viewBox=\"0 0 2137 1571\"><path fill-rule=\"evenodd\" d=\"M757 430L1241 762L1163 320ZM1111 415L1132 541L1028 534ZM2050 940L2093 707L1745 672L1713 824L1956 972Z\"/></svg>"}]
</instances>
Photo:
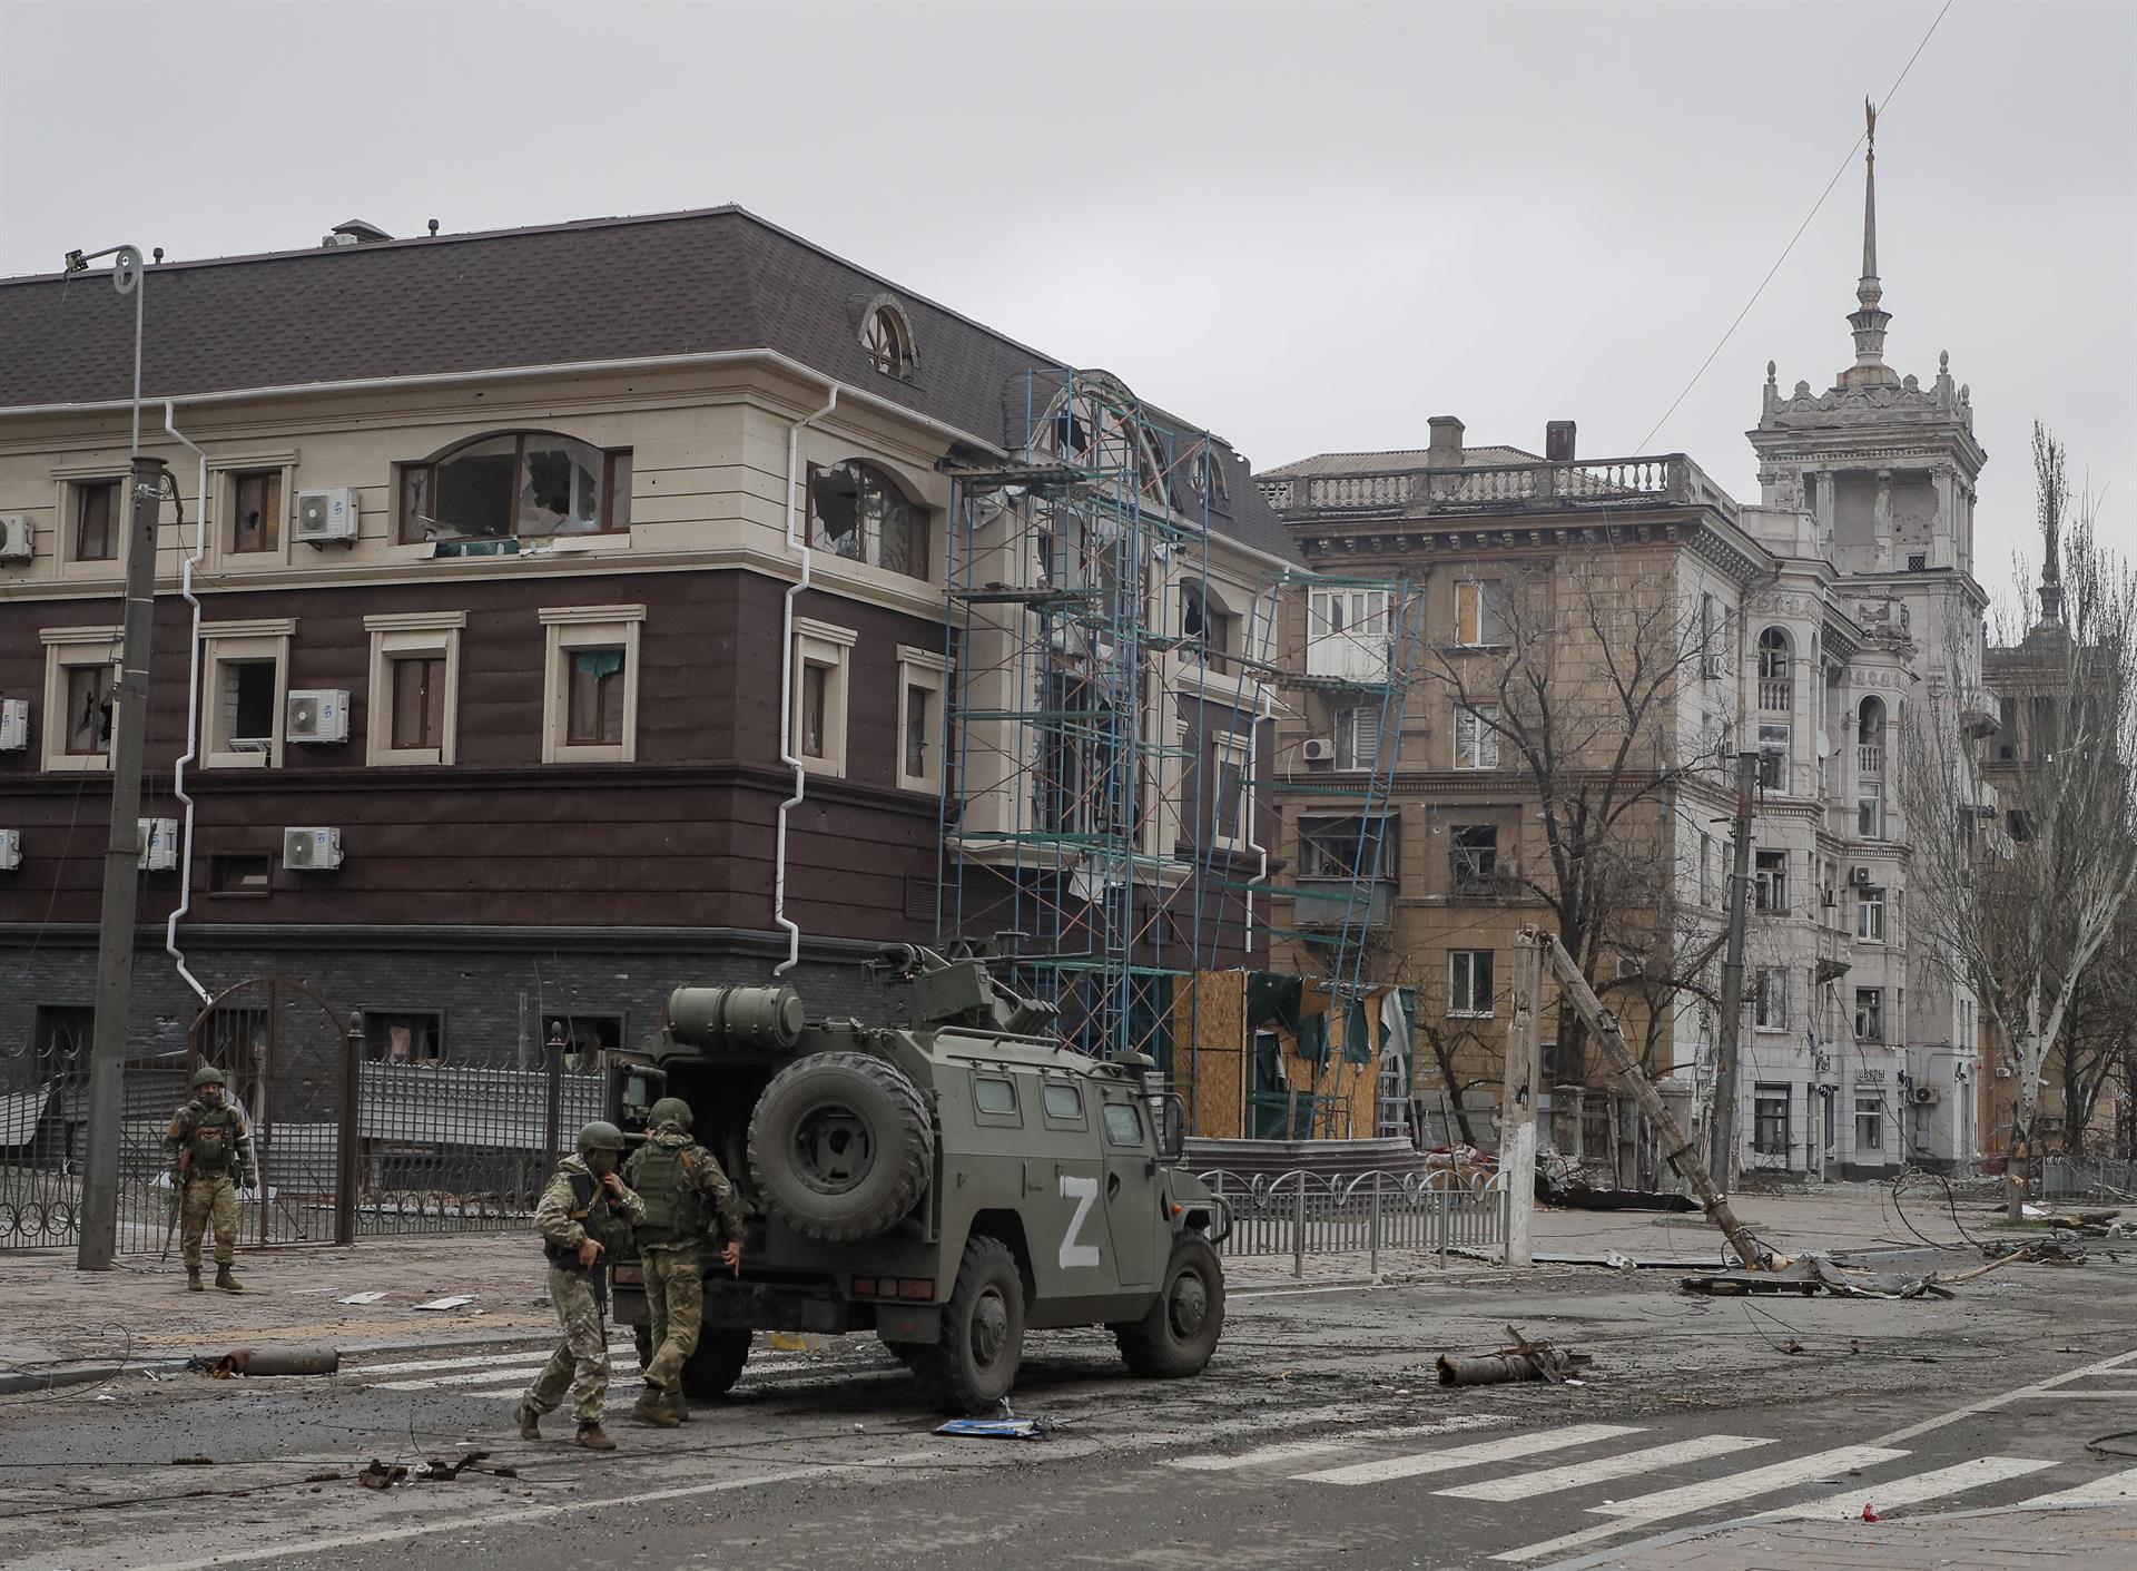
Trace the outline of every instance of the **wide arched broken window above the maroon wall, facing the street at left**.
<instances>
[{"instance_id":1,"label":"wide arched broken window above the maroon wall, facing the street at left","mask_svg":"<svg viewBox=\"0 0 2137 1571\"><path fill-rule=\"evenodd\" d=\"M630 449L498 432L400 468L400 541L500 541L630 528Z\"/></svg>"}]
</instances>

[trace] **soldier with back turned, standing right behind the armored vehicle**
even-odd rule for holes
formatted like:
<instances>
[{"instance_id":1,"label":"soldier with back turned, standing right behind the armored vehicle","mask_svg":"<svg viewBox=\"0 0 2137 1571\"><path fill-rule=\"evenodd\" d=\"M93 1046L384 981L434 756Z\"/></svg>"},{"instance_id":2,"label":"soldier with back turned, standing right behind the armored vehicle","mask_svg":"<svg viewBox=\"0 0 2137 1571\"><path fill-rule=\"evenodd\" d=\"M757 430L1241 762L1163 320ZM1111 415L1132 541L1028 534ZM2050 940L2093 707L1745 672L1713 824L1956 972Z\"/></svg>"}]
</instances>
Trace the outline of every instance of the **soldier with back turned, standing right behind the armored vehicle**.
<instances>
[{"instance_id":1,"label":"soldier with back turned, standing right behind the armored vehicle","mask_svg":"<svg viewBox=\"0 0 2137 1571\"><path fill-rule=\"evenodd\" d=\"M624 1165L624 1180L645 1201L639 1261L645 1267L645 1308L652 1315L654 1355L645 1364L645 1394L630 1413L656 1428L690 1421L682 1366L697 1351L705 1321L705 1259L701 1246L718 1223L720 1263L742 1270L742 1208L712 1152L690 1139L690 1103L662 1096L645 1116L652 1131Z\"/></svg>"}]
</instances>

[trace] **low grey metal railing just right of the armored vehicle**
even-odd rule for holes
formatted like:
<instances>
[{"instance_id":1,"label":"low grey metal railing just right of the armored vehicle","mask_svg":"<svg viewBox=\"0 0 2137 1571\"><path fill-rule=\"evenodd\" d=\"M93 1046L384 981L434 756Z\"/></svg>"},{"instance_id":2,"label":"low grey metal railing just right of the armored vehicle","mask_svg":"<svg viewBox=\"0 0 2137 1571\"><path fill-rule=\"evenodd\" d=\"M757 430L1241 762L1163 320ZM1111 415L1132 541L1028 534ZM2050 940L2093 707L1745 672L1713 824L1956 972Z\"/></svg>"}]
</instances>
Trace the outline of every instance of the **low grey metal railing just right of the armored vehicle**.
<instances>
[{"instance_id":1,"label":"low grey metal railing just right of the armored vehicle","mask_svg":"<svg viewBox=\"0 0 2137 1571\"><path fill-rule=\"evenodd\" d=\"M1308 1255L1366 1255L1381 1270L1383 1250L1430 1253L1492 1248L1507 1238L1507 1182L1494 1173L1464 1184L1451 1171L1321 1176L1306 1171L1201 1176L1231 1218L1218 1253L1291 1255L1306 1276Z\"/></svg>"}]
</instances>

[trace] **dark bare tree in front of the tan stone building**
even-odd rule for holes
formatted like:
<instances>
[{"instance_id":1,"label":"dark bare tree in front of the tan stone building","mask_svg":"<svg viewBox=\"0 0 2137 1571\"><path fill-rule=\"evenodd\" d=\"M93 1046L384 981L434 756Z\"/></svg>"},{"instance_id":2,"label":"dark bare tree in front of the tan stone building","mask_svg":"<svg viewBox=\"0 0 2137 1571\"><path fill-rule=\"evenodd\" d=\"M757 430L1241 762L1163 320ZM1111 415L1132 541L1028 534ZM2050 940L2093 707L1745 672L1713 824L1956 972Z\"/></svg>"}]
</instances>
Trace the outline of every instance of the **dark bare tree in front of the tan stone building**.
<instances>
[{"instance_id":1,"label":"dark bare tree in front of the tan stone building","mask_svg":"<svg viewBox=\"0 0 2137 1571\"><path fill-rule=\"evenodd\" d=\"M1479 603L1477 618L1498 626L1434 648L1423 678L1453 695L1455 746L1475 737L1524 780L1522 806L1537 812L1545 857L1524 861L1519 885L1549 908L1598 994L1667 1007L1675 987L1622 983L1682 975L1665 915L1669 799L1714 763L1707 737L1680 737L1675 725L1680 680L1705 654L1678 575L1652 551L1607 549L1509 577L1500 603ZM1586 1045L1579 1015L1560 1000L1562 1079L1588 1082Z\"/></svg>"}]
</instances>

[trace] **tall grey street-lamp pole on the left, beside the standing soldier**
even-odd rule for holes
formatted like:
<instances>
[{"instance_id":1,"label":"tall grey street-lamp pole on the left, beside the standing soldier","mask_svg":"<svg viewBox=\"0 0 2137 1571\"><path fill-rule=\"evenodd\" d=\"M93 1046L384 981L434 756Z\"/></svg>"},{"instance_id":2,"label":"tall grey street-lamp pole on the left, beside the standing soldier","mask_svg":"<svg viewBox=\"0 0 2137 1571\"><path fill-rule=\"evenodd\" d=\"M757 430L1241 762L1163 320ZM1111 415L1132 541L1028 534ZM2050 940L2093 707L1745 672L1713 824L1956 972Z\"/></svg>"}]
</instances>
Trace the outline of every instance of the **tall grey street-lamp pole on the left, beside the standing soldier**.
<instances>
[{"instance_id":1,"label":"tall grey street-lamp pole on the left, beside the standing soldier","mask_svg":"<svg viewBox=\"0 0 2137 1571\"><path fill-rule=\"evenodd\" d=\"M111 284L135 297L132 472L126 481L126 611L120 690L111 705L111 834L105 838L105 902L96 919L96 1026L90 1045L90 1129L81 1165L81 1231L75 1267L109 1272L120 1231L120 1120L124 1118L126 1015L132 1007L135 917L141 906L141 750L147 742L147 641L156 605L156 511L162 460L141 455L141 252L115 246ZM66 271L90 265L68 252Z\"/></svg>"}]
</instances>

